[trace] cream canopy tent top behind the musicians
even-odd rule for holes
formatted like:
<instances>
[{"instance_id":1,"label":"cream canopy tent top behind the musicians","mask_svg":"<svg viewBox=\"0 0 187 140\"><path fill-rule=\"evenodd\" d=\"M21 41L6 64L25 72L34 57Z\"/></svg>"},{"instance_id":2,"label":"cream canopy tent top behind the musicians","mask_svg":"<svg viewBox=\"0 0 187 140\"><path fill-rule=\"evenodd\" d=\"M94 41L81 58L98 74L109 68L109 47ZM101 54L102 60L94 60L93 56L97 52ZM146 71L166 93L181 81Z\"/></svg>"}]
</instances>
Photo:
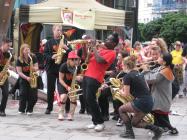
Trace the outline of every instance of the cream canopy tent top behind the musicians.
<instances>
[{"instance_id":1,"label":"cream canopy tent top behind the musicians","mask_svg":"<svg viewBox=\"0 0 187 140\"><path fill-rule=\"evenodd\" d=\"M20 8L21 22L30 23L62 23L62 11L91 13L93 26L86 27L83 22L81 29L107 29L110 26L124 26L126 12L104 6L95 0L48 0L39 4ZM87 15L84 16L88 17ZM90 22L90 21L88 21ZM81 23L80 23L81 24ZM76 26L71 24L72 26ZM77 26L76 26L77 27Z\"/></svg>"}]
</instances>

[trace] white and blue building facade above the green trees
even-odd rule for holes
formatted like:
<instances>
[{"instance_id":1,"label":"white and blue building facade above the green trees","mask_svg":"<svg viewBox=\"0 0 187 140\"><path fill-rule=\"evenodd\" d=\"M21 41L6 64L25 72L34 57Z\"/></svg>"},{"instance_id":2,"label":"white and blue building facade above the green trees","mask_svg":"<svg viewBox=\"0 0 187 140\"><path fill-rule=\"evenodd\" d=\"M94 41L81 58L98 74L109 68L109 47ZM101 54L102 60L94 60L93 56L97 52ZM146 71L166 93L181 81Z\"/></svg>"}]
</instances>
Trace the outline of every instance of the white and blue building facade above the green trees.
<instances>
[{"instance_id":1,"label":"white and blue building facade above the green trees","mask_svg":"<svg viewBox=\"0 0 187 140\"><path fill-rule=\"evenodd\" d=\"M187 13L187 0L139 0L139 23L148 23L162 15L183 11Z\"/></svg>"}]
</instances>

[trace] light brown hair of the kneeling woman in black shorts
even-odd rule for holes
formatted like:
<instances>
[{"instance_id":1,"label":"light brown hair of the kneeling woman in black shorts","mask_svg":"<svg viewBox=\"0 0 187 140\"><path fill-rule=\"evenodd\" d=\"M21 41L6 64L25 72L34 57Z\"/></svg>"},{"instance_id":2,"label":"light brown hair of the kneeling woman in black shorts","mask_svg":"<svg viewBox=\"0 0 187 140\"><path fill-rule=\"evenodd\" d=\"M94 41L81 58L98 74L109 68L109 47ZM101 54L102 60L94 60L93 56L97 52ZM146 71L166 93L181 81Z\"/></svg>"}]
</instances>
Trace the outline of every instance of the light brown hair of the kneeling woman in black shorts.
<instances>
[{"instance_id":1,"label":"light brown hair of the kneeling woman in black shorts","mask_svg":"<svg viewBox=\"0 0 187 140\"><path fill-rule=\"evenodd\" d=\"M131 55L124 58L124 65L126 65L129 69L134 69L136 66L137 56Z\"/></svg>"}]
</instances>

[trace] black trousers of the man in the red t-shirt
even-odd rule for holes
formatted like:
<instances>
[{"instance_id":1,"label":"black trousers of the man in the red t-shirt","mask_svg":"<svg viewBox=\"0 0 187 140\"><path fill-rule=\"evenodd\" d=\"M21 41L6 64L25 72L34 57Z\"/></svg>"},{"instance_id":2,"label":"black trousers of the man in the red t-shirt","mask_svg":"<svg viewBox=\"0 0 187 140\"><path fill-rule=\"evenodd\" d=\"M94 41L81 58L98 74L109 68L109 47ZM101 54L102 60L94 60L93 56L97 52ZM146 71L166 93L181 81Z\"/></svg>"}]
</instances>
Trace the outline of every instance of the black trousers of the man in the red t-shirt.
<instances>
[{"instance_id":1,"label":"black trousers of the man in the red t-shirt","mask_svg":"<svg viewBox=\"0 0 187 140\"><path fill-rule=\"evenodd\" d=\"M83 79L83 94L88 105L89 113L92 116L92 122L95 125L104 123L101 110L96 100L96 93L100 85L96 79L86 76Z\"/></svg>"}]
</instances>

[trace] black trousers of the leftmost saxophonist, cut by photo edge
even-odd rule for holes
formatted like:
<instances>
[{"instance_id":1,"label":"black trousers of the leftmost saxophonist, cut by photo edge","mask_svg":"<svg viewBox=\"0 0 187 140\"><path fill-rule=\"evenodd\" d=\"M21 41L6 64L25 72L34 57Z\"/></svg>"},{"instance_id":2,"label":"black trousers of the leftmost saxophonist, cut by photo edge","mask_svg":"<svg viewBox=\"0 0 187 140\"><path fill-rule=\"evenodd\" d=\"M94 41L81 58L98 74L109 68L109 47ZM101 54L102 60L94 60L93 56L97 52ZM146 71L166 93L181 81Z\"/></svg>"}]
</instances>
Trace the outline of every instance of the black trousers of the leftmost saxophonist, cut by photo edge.
<instances>
[{"instance_id":1,"label":"black trousers of the leftmost saxophonist, cut by photo edge","mask_svg":"<svg viewBox=\"0 0 187 140\"><path fill-rule=\"evenodd\" d=\"M2 90L2 99L0 104L0 111L5 111L7 100L8 100L8 80L5 81L4 85L0 86Z\"/></svg>"}]
</instances>

